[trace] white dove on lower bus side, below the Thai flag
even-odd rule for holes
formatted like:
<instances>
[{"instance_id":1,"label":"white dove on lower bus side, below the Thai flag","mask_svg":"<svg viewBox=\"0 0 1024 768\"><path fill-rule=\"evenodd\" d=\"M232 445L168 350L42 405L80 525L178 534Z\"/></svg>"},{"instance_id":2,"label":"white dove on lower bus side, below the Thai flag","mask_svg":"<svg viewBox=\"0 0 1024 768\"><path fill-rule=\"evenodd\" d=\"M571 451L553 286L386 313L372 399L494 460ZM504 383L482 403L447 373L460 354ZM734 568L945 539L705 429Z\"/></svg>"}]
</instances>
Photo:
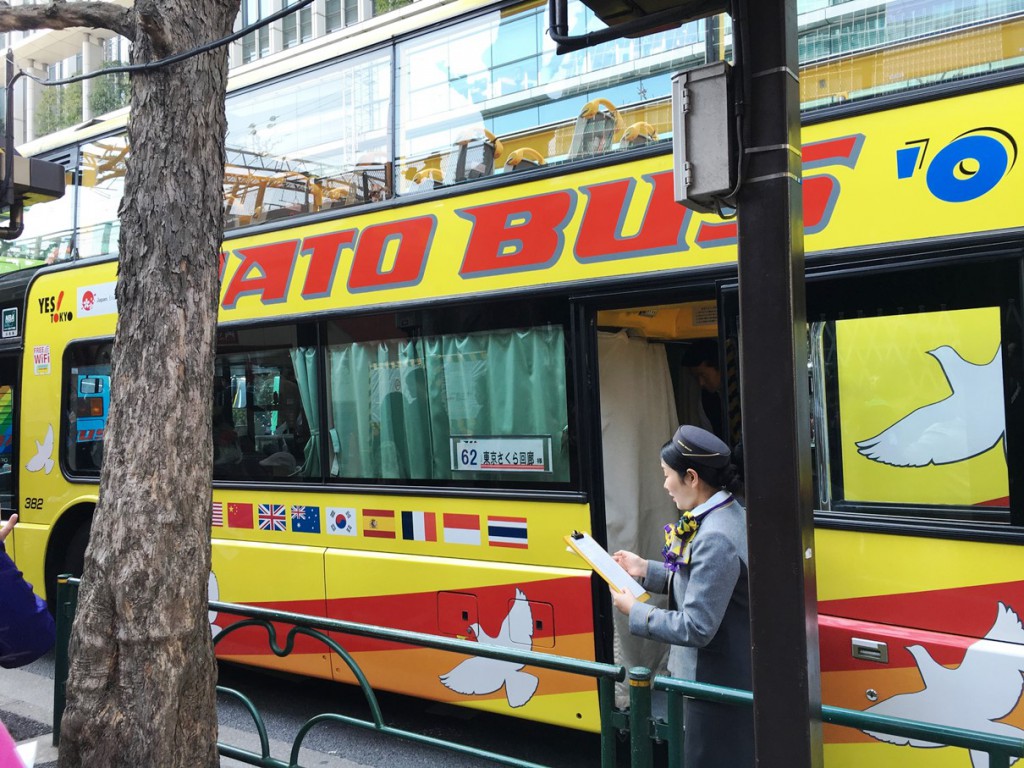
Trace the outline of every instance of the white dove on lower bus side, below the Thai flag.
<instances>
[{"instance_id":1,"label":"white dove on lower bus side, below the Thai flag","mask_svg":"<svg viewBox=\"0 0 1024 768\"><path fill-rule=\"evenodd\" d=\"M477 639L490 645L524 650L534 648L534 611L526 596L518 589L497 637L487 635L479 624L472 625L470 629ZM477 656L467 658L446 675L441 675L440 681L457 693L469 696L494 693L504 685L509 707L522 707L532 698L539 682L536 676L521 672L522 668L523 665L518 662Z\"/></svg>"}]
</instances>

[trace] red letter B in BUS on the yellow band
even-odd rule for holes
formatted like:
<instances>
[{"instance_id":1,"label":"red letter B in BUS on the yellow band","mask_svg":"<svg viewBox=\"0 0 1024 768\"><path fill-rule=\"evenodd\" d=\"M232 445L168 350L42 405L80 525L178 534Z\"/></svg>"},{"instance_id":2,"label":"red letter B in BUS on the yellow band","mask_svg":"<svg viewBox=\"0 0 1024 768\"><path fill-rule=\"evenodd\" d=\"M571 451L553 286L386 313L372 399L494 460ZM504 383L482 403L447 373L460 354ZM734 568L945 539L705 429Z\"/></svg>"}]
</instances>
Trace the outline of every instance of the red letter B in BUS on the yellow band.
<instances>
[{"instance_id":1,"label":"red letter B in BUS on the yellow band","mask_svg":"<svg viewBox=\"0 0 1024 768\"><path fill-rule=\"evenodd\" d=\"M561 255L574 206L575 194L563 190L457 210L473 224L459 273L477 278L550 266Z\"/></svg>"}]
</instances>

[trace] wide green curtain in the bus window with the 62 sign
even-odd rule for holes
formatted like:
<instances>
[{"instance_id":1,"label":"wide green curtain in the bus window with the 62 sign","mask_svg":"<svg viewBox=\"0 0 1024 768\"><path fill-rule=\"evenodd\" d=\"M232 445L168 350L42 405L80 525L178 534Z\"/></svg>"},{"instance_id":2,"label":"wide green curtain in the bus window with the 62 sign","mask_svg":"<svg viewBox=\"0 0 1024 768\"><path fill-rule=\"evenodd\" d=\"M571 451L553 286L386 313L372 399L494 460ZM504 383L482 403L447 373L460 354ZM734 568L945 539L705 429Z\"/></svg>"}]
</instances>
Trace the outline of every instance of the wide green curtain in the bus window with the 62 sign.
<instances>
[{"instance_id":1,"label":"wide green curtain in the bus window with the 62 sign","mask_svg":"<svg viewBox=\"0 0 1024 768\"><path fill-rule=\"evenodd\" d=\"M568 479L560 327L338 344L329 371L336 476L447 479L453 435L542 435Z\"/></svg>"}]
</instances>

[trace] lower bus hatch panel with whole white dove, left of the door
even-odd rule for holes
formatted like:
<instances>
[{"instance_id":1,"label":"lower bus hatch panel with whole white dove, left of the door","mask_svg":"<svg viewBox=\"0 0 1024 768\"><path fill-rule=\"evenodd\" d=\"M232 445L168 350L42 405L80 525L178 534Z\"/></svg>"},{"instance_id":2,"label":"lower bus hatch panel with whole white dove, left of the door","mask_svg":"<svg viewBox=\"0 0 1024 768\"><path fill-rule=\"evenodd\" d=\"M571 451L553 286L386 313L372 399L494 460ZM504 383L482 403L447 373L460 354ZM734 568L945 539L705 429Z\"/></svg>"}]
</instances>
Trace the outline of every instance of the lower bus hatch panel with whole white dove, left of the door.
<instances>
[{"instance_id":1,"label":"lower bus hatch panel with whole white dove, left of the door","mask_svg":"<svg viewBox=\"0 0 1024 768\"><path fill-rule=\"evenodd\" d=\"M329 551L328 614L523 651L594 658L589 570ZM598 727L592 678L339 636L375 688ZM338 680L354 682L334 657Z\"/></svg>"}]
</instances>

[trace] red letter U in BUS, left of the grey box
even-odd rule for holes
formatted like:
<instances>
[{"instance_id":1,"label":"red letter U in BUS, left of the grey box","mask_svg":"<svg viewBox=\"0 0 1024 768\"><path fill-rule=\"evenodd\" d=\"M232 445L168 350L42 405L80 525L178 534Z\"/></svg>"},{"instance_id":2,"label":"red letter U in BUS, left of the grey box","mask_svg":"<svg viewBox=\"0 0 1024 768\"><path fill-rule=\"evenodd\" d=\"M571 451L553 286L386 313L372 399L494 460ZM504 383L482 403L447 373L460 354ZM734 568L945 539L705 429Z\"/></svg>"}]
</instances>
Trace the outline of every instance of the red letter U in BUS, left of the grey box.
<instances>
[{"instance_id":1,"label":"red letter U in BUS, left of the grey box","mask_svg":"<svg viewBox=\"0 0 1024 768\"><path fill-rule=\"evenodd\" d=\"M687 250L686 226L690 211L675 201L672 171L643 178L653 189L639 230L628 237L623 234L623 229L634 199L636 181L620 179L581 188L588 201L574 246L575 257L580 261Z\"/></svg>"}]
</instances>

